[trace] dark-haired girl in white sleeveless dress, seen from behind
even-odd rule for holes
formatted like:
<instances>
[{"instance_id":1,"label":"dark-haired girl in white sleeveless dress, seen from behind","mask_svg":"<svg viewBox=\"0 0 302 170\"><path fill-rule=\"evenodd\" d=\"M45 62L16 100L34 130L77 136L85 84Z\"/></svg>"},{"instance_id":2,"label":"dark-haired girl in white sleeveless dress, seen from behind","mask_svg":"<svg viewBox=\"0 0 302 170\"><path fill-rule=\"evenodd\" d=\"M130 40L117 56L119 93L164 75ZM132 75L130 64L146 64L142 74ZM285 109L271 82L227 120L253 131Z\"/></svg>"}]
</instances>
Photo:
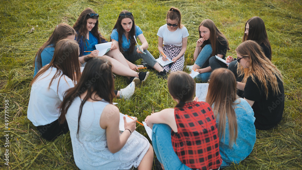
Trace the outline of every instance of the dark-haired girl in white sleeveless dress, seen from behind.
<instances>
[{"instance_id":1,"label":"dark-haired girl in white sleeveless dress, seen from behind","mask_svg":"<svg viewBox=\"0 0 302 170\"><path fill-rule=\"evenodd\" d=\"M80 169L151 169L153 148L136 132L136 120L120 133L120 114L112 104L111 63L100 58L87 62L78 84L62 102L60 120L69 124L73 156Z\"/></svg>"}]
</instances>

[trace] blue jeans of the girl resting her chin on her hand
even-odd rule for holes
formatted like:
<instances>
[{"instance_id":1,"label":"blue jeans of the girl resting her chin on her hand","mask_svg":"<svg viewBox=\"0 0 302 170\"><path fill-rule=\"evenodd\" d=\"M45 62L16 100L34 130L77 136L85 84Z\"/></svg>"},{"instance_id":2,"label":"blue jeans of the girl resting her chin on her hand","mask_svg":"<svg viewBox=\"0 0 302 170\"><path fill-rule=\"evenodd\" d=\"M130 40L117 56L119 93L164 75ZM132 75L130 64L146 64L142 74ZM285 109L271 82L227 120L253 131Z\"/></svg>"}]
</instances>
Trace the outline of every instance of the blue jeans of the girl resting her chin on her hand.
<instances>
[{"instance_id":1,"label":"blue jeans of the girl resting her chin on her hand","mask_svg":"<svg viewBox=\"0 0 302 170\"><path fill-rule=\"evenodd\" d=\"M202 67L204 63L207 62L207 59L211 56L212 54L212 46L211 44L205 45L202 49L201 52L198 54L198 57L195 61L194 64L196 64L199 67ZM207 64L206 67L210 66L210 64ZM210 78L211 72L204 72L199 74L196 79L197 81L201 82L207 82L208 79Z\"/></svg>"}]
</instances>

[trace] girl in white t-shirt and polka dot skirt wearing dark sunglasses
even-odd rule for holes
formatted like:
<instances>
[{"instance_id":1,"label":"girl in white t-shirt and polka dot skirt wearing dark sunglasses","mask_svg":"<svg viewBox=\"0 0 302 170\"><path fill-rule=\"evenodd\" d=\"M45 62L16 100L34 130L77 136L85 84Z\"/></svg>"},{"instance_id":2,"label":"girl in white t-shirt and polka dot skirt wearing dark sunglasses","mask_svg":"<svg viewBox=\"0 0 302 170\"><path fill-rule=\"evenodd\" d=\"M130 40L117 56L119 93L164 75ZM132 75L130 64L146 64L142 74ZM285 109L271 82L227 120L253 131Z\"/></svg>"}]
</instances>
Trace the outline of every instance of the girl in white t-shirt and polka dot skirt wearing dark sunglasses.
<instances>
[{"instance_id":1,"label":"girl in white t-shirt and polka dot skirt wearing dark sunglasses","mask_svg":"<svg viewBox=\"0 0 302 170\"><path fill-rule=\"evenodd\" d=\"M181 24L181 14L177 8L170 8L167 13L167 24L159 27L158 50L172 59L173 63L166 65L166 72L182 71L185 63L185 51L187 49L188 30ZM162 57L160 54L159 57ZM162 57L166 61L165 57Z\"/></svg>"}]
</instances>

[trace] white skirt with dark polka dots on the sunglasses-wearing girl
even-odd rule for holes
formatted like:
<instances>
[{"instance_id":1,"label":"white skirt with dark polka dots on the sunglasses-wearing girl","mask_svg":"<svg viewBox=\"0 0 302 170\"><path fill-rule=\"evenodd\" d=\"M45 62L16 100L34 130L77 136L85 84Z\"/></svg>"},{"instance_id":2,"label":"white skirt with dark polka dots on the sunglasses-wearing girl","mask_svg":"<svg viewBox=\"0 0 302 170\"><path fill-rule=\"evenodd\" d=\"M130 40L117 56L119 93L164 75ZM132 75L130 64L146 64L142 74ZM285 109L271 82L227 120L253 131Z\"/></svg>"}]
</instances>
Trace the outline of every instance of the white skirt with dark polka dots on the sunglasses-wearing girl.
<instances>
[{"instance_id":1,"label":"white skirt with dark polka dots on the sunglasses-wearing girl","mask_svg":"<svg viewBox=\"0 0 302 170\"><path fill-rule=\"evenodd\" d=\"M180 50L182 50L182 47L166 44L164 45L163 49L167 57L173 59L179 54ZM159 55L159 57L162 57L162 55ZM175 63L171 63L167 66L163 66L162 68L166 72L182 71L184 68L184 63L185 63L185 54L183 54Z\"/></svg>"}]
</instances>

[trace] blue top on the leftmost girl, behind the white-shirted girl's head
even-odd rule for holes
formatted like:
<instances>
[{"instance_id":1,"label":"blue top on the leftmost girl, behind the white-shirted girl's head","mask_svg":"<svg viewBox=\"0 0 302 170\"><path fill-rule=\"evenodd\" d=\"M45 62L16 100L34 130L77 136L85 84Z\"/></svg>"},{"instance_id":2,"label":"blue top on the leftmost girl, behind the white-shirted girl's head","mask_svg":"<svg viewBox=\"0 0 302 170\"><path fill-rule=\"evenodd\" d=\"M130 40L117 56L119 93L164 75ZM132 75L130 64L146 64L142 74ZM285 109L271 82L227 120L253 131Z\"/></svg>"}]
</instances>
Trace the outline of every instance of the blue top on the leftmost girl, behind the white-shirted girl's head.
<instances>
[{"instance_id":1,"label":"blue top on the leftmost girl, behind the white-shirted girl's head","mask_svg":"<svg viewBox=\"0 0 302 170\"><path fill-rule=\"evenodd\" d=\"M43 66L50 63L50 61L53 59L54 51L55 51L55 48L53 47L53 44L50 44L49 46L44 48L44 50L41 52L42 66L39 66L39 63L36 58L34 77Z\"/></svg>"}]
</instances>

